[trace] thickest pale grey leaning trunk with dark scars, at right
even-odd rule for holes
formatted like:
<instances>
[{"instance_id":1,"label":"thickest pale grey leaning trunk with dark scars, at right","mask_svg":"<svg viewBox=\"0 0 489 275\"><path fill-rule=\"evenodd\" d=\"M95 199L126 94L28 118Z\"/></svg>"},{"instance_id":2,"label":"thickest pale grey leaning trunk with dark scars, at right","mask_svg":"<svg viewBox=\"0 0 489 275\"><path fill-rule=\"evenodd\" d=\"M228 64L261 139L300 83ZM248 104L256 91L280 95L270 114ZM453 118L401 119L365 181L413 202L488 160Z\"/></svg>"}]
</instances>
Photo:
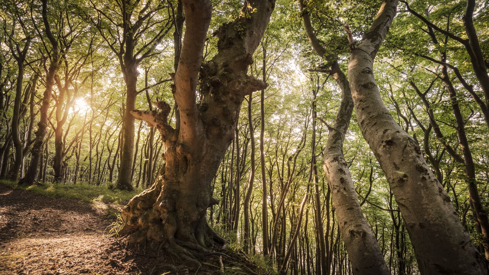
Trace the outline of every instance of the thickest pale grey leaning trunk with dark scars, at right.
<instances>
[{"instance_id":1,"label":"thickest pale grey leaning trunk with dark scars, at right","mask_svg":"<svg viewBox=\"0 0 489 275\"><path fill-rule=\"evenodd\" d=\"M397 4L398 0L383 1L360 45L351 47L348 78L358 125L392 188L421 274L487 274L483 258L426 164L419 144L396 123L378 92L374 58Z\"/></svg>"}]
</instances>

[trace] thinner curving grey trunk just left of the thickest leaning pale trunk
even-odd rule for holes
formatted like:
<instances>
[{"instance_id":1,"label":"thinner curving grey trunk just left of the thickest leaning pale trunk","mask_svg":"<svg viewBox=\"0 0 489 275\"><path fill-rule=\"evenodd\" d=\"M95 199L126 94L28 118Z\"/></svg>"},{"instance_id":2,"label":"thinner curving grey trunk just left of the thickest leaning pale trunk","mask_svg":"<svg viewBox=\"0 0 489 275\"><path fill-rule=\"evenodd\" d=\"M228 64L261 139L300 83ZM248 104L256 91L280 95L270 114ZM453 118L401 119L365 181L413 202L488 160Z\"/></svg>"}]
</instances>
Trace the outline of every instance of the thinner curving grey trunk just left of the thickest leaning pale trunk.
<instances>
[{"instance_id":1,"label":"thinner curving grey trunk just left of the thickest leaning pale trunk","mask_svg":"<svg viewBox=\"0 0 489 275\"><path fill-rule=\"evenodd\" d=\"M305 10L303 0L300 1L300 5L313 49L327 61L332 61L332 57L326 56L326 49L321 46L314 34L310 15ZM348 29L346 30L349 32ZM377 238L363 216L350 169L343 155L343 141L353 113L350 83L334 59L328 73L333 76L341 89L341 104L333 127L326 123L329 135L323 151L323 169L331 189L339 229L356 275L387 275L389 270L384 256L378 246Z\"/></svg>"}]
</instances>

